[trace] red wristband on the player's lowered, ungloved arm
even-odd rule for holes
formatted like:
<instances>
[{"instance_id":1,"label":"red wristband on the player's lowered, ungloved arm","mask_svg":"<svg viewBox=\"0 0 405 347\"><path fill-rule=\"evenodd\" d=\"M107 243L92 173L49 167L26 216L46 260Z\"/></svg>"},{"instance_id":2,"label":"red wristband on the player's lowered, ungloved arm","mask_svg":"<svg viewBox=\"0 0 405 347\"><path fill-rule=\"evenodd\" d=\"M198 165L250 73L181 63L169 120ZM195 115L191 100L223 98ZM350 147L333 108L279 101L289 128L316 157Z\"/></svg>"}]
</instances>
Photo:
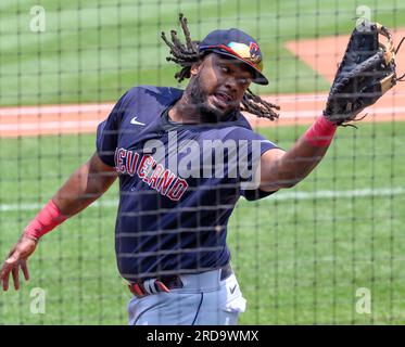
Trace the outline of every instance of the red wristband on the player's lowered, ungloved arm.
<instances>
[{"instance_id":1,"label":"red wristband on the player's lowered, ungloved arm","mask_svg":"<svg viewBox=\"0 0 405 347\"><path fill-rule=\"evenodd\" d=\"M39 211L39 214L25 228L24 234L40 239L46 233L58 227L67 219L52 200Z\"/></svg>"}]
</instances>

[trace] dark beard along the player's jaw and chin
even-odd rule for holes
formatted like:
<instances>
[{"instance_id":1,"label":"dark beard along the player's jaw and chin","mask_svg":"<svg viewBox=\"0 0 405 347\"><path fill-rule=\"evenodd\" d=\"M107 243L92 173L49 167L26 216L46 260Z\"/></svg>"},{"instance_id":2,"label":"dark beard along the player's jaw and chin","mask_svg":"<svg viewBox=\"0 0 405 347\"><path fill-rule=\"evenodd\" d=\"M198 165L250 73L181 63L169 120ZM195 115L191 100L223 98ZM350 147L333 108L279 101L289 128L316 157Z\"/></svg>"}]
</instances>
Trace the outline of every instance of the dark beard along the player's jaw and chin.
<instances>
[{"instance_id":1,"label":"dark beard along the player's jaw and chin","mask_svg":"<svg viewBox=\"0 0 405 347\"><path fill-rule=\"evenodd\" d=\"M190 102L197 107L203 123L218 123L225 120L231 113L238 110L233 106L227 111L222 111L208 103L206 94L203 92L200 76L195 76L189 83Z\"/></svg>"}]
</instances>

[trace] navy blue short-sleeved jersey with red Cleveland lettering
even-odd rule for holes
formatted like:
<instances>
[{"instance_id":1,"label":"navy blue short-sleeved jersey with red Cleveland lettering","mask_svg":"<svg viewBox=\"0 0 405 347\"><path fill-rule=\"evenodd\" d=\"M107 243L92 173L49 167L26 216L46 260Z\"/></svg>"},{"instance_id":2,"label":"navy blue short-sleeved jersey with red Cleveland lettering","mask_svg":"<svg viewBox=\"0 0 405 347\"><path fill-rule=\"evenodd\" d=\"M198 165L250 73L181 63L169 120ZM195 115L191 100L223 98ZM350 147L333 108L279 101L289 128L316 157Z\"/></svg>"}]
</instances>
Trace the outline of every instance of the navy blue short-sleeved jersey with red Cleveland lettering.
<instances>
[{"instance_id":1,"label":"navy blue short-sleeved jersey with red Cleveland lettering","mask_svg":"<svg viewBox=\"0 0 405 347\"><path fill-rule=\"evenodd\" d=\"M181 95L176 88L135 87L98 127L98 154L119 175L115 250L128 281L225 266L238 198L270 194L249 184L254 145L258 157L276 145L239 112L217 124L172 121L168 110Z\"/></svg>"}]
</instances>

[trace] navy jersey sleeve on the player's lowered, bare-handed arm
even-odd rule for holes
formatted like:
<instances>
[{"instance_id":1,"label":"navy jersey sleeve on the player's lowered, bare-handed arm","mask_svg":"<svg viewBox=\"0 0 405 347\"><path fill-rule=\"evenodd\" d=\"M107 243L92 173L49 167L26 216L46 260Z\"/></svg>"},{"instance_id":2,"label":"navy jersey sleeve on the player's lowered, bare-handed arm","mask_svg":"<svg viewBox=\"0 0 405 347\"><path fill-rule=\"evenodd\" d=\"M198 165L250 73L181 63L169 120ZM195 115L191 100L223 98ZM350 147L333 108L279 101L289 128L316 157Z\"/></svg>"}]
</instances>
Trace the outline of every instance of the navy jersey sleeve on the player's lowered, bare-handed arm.
<instances>
[{"instance_id":1,"label":"navy jersey sleeve on the player's lowered, bare-handed arm","mask_svg":"<svg viewBox=\"0 0 405 347\"><path fill-rule=\"evenodd\" d=\"M114 153L117 147L121 119L125 112L126 92L115 104L109 117L99 124L97 128L96 146L100 159L109 166L114 167Z\"/></svg>"}]
</instances>

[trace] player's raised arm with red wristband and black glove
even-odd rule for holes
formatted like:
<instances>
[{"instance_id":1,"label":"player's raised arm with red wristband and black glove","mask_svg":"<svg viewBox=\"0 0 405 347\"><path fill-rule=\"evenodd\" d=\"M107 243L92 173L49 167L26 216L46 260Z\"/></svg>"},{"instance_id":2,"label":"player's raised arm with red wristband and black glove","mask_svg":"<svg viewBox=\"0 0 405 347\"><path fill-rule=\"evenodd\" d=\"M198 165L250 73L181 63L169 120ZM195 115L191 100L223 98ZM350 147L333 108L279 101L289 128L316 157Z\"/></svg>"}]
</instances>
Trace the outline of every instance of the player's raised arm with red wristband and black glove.
<instances>
[{"instance_id":1,"label":"player's raised arm with red wristband and black glove","mask_svg":"<svg viewBox=\"0 0 405 347\"><path fill-rule=\"evenodd\" d=\"M401 80L395 72L397 50L387 27L366 22L356 26L322 115L291 150L274 149L262 155L261 190L271 192L291 188L308 176L324 158L337 127L356 119L363 110Z\"/></svg>"}]
</instances>

